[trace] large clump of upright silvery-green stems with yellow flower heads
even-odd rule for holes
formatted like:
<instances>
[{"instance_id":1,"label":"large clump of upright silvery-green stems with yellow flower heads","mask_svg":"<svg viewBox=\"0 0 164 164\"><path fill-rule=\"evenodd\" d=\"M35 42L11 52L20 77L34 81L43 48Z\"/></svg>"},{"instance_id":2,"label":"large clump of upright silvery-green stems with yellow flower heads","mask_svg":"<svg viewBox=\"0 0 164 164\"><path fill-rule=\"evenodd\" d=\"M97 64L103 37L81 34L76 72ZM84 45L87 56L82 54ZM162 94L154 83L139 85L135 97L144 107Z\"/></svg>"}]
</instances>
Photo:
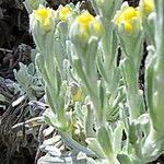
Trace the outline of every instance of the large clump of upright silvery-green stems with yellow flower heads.
<instances>
[{"instance_id":1,"label":"large clump of upright silvery-green stems with yellow flower heads","mask_svg":"<svg viewBox=\"0 0 164 164\"><path fill-rule=\"evenodd\" d=\"M156 160L164 147L164 1L141 0L133 8L120 0L94 0L96 16L81 11L80 3L56 11L38 1L35 8L25 3L33 10L35 62L49 106L43 118L47 131L56 131L44 141L48 155L38 163ZM145 96L139 89L143 42L149 51Z\"/></svg>"}]
</instances>

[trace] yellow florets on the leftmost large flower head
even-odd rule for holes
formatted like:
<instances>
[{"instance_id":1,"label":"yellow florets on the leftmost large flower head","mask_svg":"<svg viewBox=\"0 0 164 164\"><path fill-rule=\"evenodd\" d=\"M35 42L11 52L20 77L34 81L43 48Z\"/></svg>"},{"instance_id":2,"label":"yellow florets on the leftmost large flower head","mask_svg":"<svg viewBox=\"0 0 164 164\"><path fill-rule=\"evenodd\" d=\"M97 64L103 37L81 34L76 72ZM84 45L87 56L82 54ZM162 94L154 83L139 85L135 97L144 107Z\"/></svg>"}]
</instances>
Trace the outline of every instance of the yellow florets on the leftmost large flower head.
<instances>
[{"instance_id":1,"label":"yellow florets on the leftmost large flower head","mask_svg":"<svg viewBox=\"0 0 164 164\"><path fill-rule=\"evenodd\" d=\"M49 8L39 8L35 11L35 16L43 25L44 30L47 32L50 30L50 16L52 15L52 12Z\"/></svg>"}]
</instances>

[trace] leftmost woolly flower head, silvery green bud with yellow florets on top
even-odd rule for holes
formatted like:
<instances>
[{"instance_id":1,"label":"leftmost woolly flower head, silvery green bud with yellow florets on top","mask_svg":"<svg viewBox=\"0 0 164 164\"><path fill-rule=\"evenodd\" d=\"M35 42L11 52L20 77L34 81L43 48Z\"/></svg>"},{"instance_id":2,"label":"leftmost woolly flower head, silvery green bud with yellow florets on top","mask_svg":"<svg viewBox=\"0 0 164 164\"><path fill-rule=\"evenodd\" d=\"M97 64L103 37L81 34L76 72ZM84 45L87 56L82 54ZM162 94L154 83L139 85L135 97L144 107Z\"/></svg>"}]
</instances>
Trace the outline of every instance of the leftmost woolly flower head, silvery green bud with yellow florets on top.
<instances>
[{"instance_id":1,"label":"leftmost woolly flower head, silvery green bud with yellow florets on top","mask_svg":"<svg viewBox=\"0 0 164 164\"><path fill-rule=\"evenodd\" d=\"M42 52L43 50L52 49L56 24L57 21L52 9L39 5L30 15L30 31L32 32L37 48Z\"/></svg>"}]
</instances>

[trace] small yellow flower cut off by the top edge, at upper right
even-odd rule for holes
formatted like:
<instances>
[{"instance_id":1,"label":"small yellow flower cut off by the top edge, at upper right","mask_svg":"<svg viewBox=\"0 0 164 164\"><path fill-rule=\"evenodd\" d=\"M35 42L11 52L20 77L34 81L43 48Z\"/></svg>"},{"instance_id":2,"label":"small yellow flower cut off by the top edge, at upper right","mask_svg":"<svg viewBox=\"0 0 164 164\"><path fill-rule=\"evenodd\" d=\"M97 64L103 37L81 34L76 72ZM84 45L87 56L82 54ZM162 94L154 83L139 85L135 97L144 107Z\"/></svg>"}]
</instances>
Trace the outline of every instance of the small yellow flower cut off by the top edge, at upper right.
<instances>
[{"instance_id":1,"label":"small yellow flower cut off by the top edge, at upper right","mask_svg":"<svg viewBox=\"0 0 164 164\"><path fill-rule=\"evenodd\" d=\"M143 12L150 14L154 10L153 0L143 0Z\"/></svg>"}]
</instances>

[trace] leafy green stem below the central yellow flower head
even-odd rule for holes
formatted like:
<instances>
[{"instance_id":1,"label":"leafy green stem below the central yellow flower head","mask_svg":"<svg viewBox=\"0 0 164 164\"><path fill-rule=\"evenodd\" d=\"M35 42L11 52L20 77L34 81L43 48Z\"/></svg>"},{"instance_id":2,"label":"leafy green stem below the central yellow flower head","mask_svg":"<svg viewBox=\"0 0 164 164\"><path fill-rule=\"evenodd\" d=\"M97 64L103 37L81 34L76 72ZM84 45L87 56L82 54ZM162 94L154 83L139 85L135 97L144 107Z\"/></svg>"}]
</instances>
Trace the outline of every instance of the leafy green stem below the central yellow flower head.
<instances>
[{"instance_id":1,"label":"leafy green stem below the central yellow flower head","mask_svg":"<svg viewBox=\"0 0 164 164\"><path fill-rule=\"evenodd\" d=\"M92 65L86 61L85 58L87 55L85 50L81 49L81 47L75 48L79 55L79 59L74 62L74 67L79 77L84 82L93 103L97 126L101 126L105 120L103 119L103 109L101 107L101 98L98 95L96 67L94 65L94 61Z\"/></svg>"}]
</instances>

